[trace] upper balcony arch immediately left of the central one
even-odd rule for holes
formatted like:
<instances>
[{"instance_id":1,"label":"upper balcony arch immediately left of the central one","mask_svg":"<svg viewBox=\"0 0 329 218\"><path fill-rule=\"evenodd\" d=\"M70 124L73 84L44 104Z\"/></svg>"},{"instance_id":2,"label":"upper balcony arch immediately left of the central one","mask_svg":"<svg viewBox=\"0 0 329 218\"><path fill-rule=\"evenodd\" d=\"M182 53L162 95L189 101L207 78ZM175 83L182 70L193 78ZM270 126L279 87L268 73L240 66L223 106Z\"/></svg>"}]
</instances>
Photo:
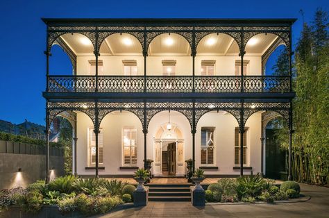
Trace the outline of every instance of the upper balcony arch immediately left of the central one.
<instances>
[{"instance_id":1,"label":"upper balcony arch immediately left of the central one","mask_svg":"<svg viewBox=\"0 0 329 218\"><path fill-rule=\"evenodd\" d=\"M137 76L144 74L142 44L128 33L114 33L101 43L99 75Z\"/></svg>"}]
</instances>

